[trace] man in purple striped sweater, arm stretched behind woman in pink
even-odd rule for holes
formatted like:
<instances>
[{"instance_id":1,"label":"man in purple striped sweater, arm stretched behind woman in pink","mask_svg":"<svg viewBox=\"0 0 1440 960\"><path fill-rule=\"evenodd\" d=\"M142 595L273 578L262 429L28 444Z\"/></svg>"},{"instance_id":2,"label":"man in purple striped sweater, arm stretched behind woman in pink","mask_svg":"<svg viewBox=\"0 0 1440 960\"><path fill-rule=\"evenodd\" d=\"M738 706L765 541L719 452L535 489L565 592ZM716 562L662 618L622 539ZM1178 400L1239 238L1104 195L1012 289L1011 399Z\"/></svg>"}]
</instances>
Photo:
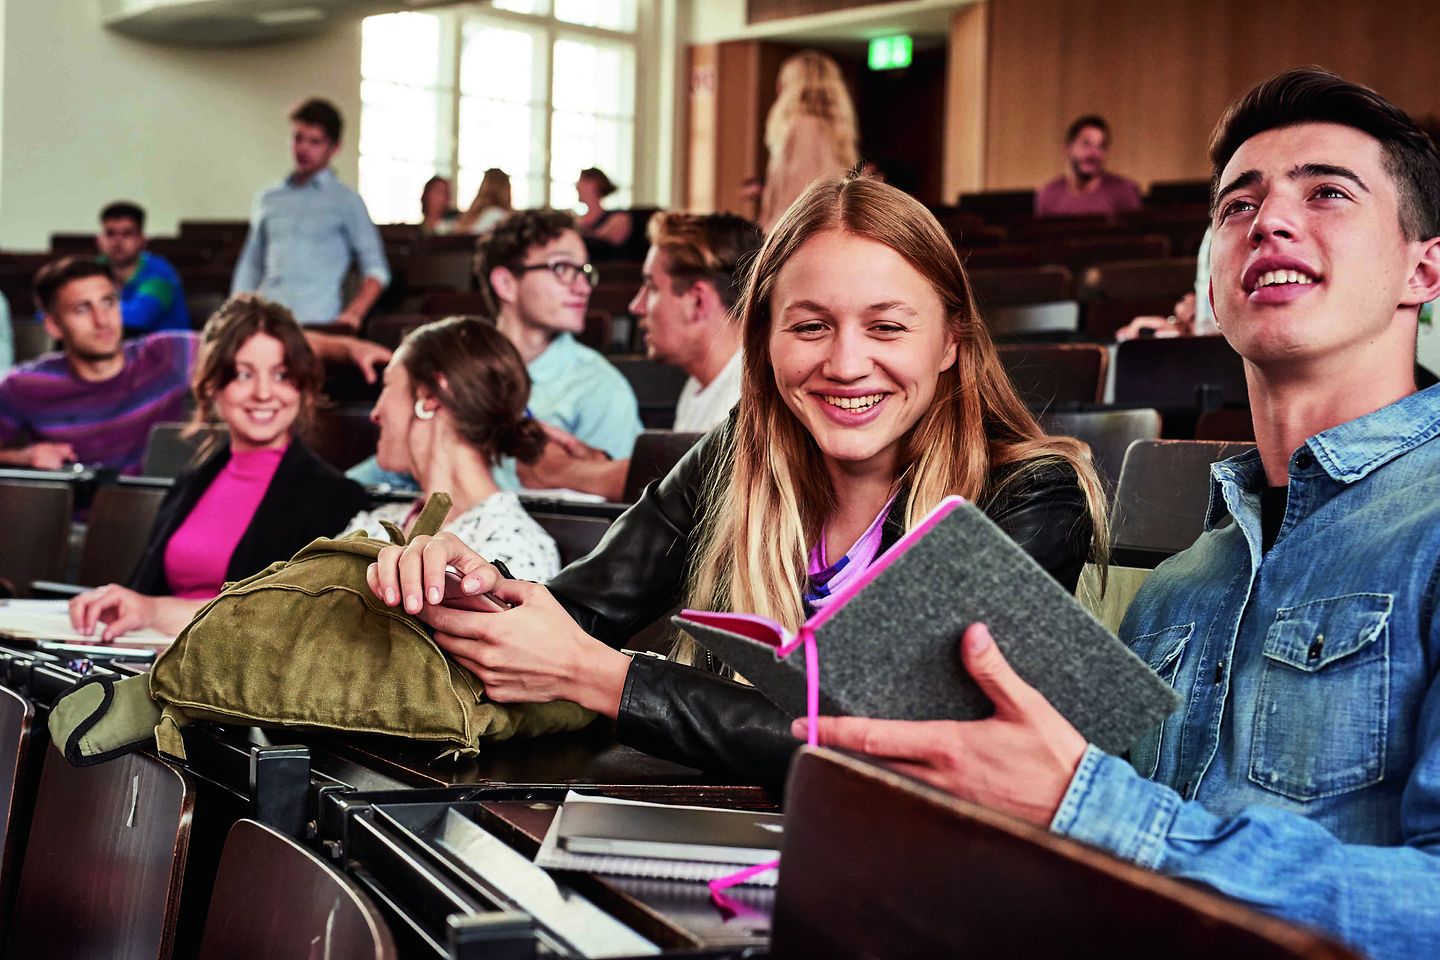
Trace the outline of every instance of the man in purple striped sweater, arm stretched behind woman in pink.
<instances>
[{"instance_id":1,"label":"man in purple striped sweater, arm stretched behind woman in pink","mask_svg":"<svg viewBox=\"0 0 1440 960\"><path fill-rule=\"evenodd\" d=\"M46 263L35 275L35 296L60 350L0 380L0 466L85 463L138 474L150 427L184 419L200 337L164 331L124 341L115 278L92 259ZM376 364L390 358L354 337L305 338L323 360L348 360L370 381Z\"/></svg>"}]
</instances>

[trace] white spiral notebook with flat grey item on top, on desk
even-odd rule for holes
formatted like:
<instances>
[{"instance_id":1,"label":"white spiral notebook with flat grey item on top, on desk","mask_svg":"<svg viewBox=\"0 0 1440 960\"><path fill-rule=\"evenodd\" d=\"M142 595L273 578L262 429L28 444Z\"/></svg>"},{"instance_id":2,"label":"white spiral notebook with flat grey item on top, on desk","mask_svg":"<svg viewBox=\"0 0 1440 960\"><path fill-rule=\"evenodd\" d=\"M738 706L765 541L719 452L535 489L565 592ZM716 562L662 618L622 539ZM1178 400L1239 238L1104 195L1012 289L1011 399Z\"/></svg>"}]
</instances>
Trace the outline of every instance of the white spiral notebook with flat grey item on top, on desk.
<instances>
[{"instance_id":1,"label":"white spiral notebook with flat grey item on top, on desk","mask_svg":"<svg viewBox=\"0 0 1440 960\"><path fill-rule=\"evenodd\" d=\"M644 803L570 790L534 862L549 869L704 882L778 858L780 823L778 813ZM586 852L600 849L616 852ZM778 877L779 871L770 869L747 882L773 887Z\"/></svg>"}]
</instances>

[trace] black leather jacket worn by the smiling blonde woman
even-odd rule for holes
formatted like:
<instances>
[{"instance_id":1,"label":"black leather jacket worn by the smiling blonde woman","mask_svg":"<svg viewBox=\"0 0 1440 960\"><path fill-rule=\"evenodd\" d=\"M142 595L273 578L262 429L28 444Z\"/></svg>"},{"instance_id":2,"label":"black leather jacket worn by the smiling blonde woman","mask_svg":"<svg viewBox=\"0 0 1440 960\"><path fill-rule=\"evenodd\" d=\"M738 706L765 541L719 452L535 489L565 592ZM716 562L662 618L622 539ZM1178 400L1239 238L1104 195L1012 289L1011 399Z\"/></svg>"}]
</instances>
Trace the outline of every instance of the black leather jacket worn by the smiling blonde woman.
<instances>
[{"instance_id":1,"label":"black leather jacket worn by the smiling blonde woman","mask_svg":"<svg viewBox=\"0 0 1440 960\"><path fill-rule=\"evenodd\" d=\"M619 648L683 600L704 479L726 429L701 439L615 521L595 553L547 584L590 636ZM886 520L881 547L904 533L901 501L896 498ZM1008 484L981 507L1056 580L1074 590L1090 553L1092 524L1068 466L1050 466ZM791 717L753 687L651 656L634 658L616 724L621 741L638 750L772 789L783 784L799 747L789 728Z\"/></svg>"}]
</instances>

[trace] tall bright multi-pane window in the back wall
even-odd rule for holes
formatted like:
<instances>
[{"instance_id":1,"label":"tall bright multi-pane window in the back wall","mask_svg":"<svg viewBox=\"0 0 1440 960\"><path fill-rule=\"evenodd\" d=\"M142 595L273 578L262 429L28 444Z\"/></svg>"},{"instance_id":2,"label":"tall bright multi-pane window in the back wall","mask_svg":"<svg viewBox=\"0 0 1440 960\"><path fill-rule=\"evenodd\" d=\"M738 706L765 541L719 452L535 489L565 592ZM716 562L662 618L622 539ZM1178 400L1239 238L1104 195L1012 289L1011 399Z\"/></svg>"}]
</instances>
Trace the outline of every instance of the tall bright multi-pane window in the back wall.
<instances>
[{"instance_id":1,"label":"tall bright multi-pane window in the back wall","mask_svg":"<svg viewBox=\"0 0 1440 960\"><path fill-rule=\"evenodd\" d=\"M484 10L367 17L360 193L376 222L419 219L420 187L452 177L469 204L485 170L516 207L573 207L599 167L631 203L636 0L494 0Z\"/></svg>"}]
</instances>

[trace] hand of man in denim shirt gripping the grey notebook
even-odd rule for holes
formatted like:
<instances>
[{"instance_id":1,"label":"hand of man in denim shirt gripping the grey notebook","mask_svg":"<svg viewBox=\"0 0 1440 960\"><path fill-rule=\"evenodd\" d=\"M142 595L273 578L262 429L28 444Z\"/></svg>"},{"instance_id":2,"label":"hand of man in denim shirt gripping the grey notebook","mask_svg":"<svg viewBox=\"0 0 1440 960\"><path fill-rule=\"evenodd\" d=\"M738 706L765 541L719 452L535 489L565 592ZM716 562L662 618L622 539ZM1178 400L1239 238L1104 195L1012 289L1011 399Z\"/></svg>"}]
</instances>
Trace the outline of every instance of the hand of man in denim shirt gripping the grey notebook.
<instances>
[{"instance_id":1,"label":"hand of man in denim shirt gripping the grey notebook","mask_svg":"<svg viewBox=\"0 0 1440 960\"><path fill-rule=\"evenodd\" d=\"M1084 737L1015 674L984 623L965 632L960 658L995 704L994 717L968 723L821 717L819 743L886 760L963 800L1048 826L1080 766ZM791 731L805 737L806 721L796 720Z\"/></svg>"}]
</instances>

